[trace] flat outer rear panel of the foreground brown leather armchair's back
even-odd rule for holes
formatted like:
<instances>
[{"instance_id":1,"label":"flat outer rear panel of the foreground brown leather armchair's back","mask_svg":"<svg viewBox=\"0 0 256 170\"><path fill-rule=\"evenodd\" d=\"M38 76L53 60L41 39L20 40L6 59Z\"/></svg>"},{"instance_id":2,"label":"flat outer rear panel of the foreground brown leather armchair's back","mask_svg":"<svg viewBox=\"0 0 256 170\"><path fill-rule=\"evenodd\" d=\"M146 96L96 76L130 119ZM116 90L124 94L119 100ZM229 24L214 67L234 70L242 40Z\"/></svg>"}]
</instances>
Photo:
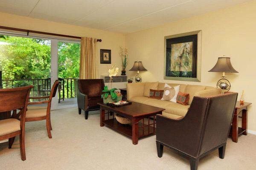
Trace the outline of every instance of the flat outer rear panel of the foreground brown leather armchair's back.
<instances>
[{"instance_id":1,"label":"flat outer rear panel of the foreground brown leather armchair's back","mask_svg":"<svg viewBox=\"0 0 256 170\"><path fill-rule=\"evenodd\" d=\"M208 104L199 155L227 141L237 95L237 93L229 92L207 97Z\"/></svg>"}]
</instances>

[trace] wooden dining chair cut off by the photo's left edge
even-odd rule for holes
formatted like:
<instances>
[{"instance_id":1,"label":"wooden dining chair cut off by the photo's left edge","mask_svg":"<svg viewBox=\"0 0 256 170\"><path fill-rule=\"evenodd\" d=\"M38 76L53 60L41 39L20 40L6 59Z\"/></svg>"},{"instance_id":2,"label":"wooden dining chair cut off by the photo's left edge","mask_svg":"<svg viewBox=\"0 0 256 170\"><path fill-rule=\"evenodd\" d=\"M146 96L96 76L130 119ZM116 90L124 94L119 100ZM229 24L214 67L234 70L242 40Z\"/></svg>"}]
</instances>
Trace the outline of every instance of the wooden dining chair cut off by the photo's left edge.
<instances>
[{"instance_id":1,"label":"wooden dining chair cut off by the photo's left edge","mask_svg":"<svg viewBox=\"0 0 256 170\"><path fill-rule=\"evenodd\" d=\"M15 136L20 135L21 160L26 160L25 154L25 116L29 93L33 86L22 88L0 89L0 113L13 111L10 119L0 120L0 141L9 139L9 149L12 148ZM20 110L20 120L15 119L17 109Z\"/></svg>"}]
</instances>

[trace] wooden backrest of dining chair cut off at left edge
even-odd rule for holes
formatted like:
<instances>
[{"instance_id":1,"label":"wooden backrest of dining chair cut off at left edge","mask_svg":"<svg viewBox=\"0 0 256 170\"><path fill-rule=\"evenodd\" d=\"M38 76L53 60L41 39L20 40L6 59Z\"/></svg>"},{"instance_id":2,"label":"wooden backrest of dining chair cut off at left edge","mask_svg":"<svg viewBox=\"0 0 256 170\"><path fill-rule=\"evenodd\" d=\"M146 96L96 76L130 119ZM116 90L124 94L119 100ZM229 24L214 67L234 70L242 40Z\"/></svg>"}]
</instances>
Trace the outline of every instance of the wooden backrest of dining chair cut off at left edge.
<instances>
[{"instance_id":1,"label":"wooden backrest of dining chair cut off at left edge","mask_svg":"<svg viewBox=\"0 0 256 170\"><path fill-rule=\"evenodd\" d=\"M32 85L21 88L0 89L0 112L13 111L27 106Z\"/></svg>"}]
</instances>

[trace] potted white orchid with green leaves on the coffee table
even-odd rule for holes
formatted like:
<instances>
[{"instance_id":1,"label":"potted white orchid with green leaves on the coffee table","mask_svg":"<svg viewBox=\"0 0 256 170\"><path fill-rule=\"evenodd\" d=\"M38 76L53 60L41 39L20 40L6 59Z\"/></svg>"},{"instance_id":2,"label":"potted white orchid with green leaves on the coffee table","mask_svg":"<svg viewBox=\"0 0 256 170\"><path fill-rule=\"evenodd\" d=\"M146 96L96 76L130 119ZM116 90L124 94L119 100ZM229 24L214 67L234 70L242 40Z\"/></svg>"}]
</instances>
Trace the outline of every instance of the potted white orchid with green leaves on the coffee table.
<instances>
[{"instance_id":1,"label":"potted white orchid with green leaves on the coffee table","mask_svg":"<svg viewBox=\"0 0 256 170\"><path fill-rule=\"evenodd\" d=\"M102 91L102 98L103 98L103 103L109 103L109 102L118 102L122 100L122 94L117 91L117 88L112 88L112 79L113 76L116 76L116 74L119 71L119 68L115 68L116 65L114 65L111 69L108 70L109 73L109 82L108 86L106 85L104 87L104 90ZM109 90L110 89L110 90Z\"/></svg>"}]
</instances>

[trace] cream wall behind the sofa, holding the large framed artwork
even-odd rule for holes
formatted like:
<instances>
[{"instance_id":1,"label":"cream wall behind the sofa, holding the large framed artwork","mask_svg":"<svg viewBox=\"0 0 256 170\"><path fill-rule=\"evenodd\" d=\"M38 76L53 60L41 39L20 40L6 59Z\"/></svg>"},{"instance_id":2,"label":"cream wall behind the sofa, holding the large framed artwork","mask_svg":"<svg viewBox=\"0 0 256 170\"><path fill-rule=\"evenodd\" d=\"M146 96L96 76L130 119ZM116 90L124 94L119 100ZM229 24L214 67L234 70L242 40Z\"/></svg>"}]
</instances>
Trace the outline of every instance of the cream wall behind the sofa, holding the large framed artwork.
<instances>
[{"instance_id":1,"label":"cream wall behind the sofa, holding the large framed artwork","mask_svg":"<svg viewBox=\"0 0 256 170\"><path fill-rule=\"evenodd\" d=\"M182 82L163 79L164 37L202 30L201 82ZM244 99L252 102L248 112L249 132L256 134L256 1L220 11L191 17L125 35L129 50L128 69L137 59L148 71L142 72L143 81L178 82L215 86L221 73L208 72L222 55L231 57L237 74L226 74L231 91L244 89ZM127 70L128 70L127 69ZM128 71L128 76L135 76Z\"/></svg>"}]
</instances>

